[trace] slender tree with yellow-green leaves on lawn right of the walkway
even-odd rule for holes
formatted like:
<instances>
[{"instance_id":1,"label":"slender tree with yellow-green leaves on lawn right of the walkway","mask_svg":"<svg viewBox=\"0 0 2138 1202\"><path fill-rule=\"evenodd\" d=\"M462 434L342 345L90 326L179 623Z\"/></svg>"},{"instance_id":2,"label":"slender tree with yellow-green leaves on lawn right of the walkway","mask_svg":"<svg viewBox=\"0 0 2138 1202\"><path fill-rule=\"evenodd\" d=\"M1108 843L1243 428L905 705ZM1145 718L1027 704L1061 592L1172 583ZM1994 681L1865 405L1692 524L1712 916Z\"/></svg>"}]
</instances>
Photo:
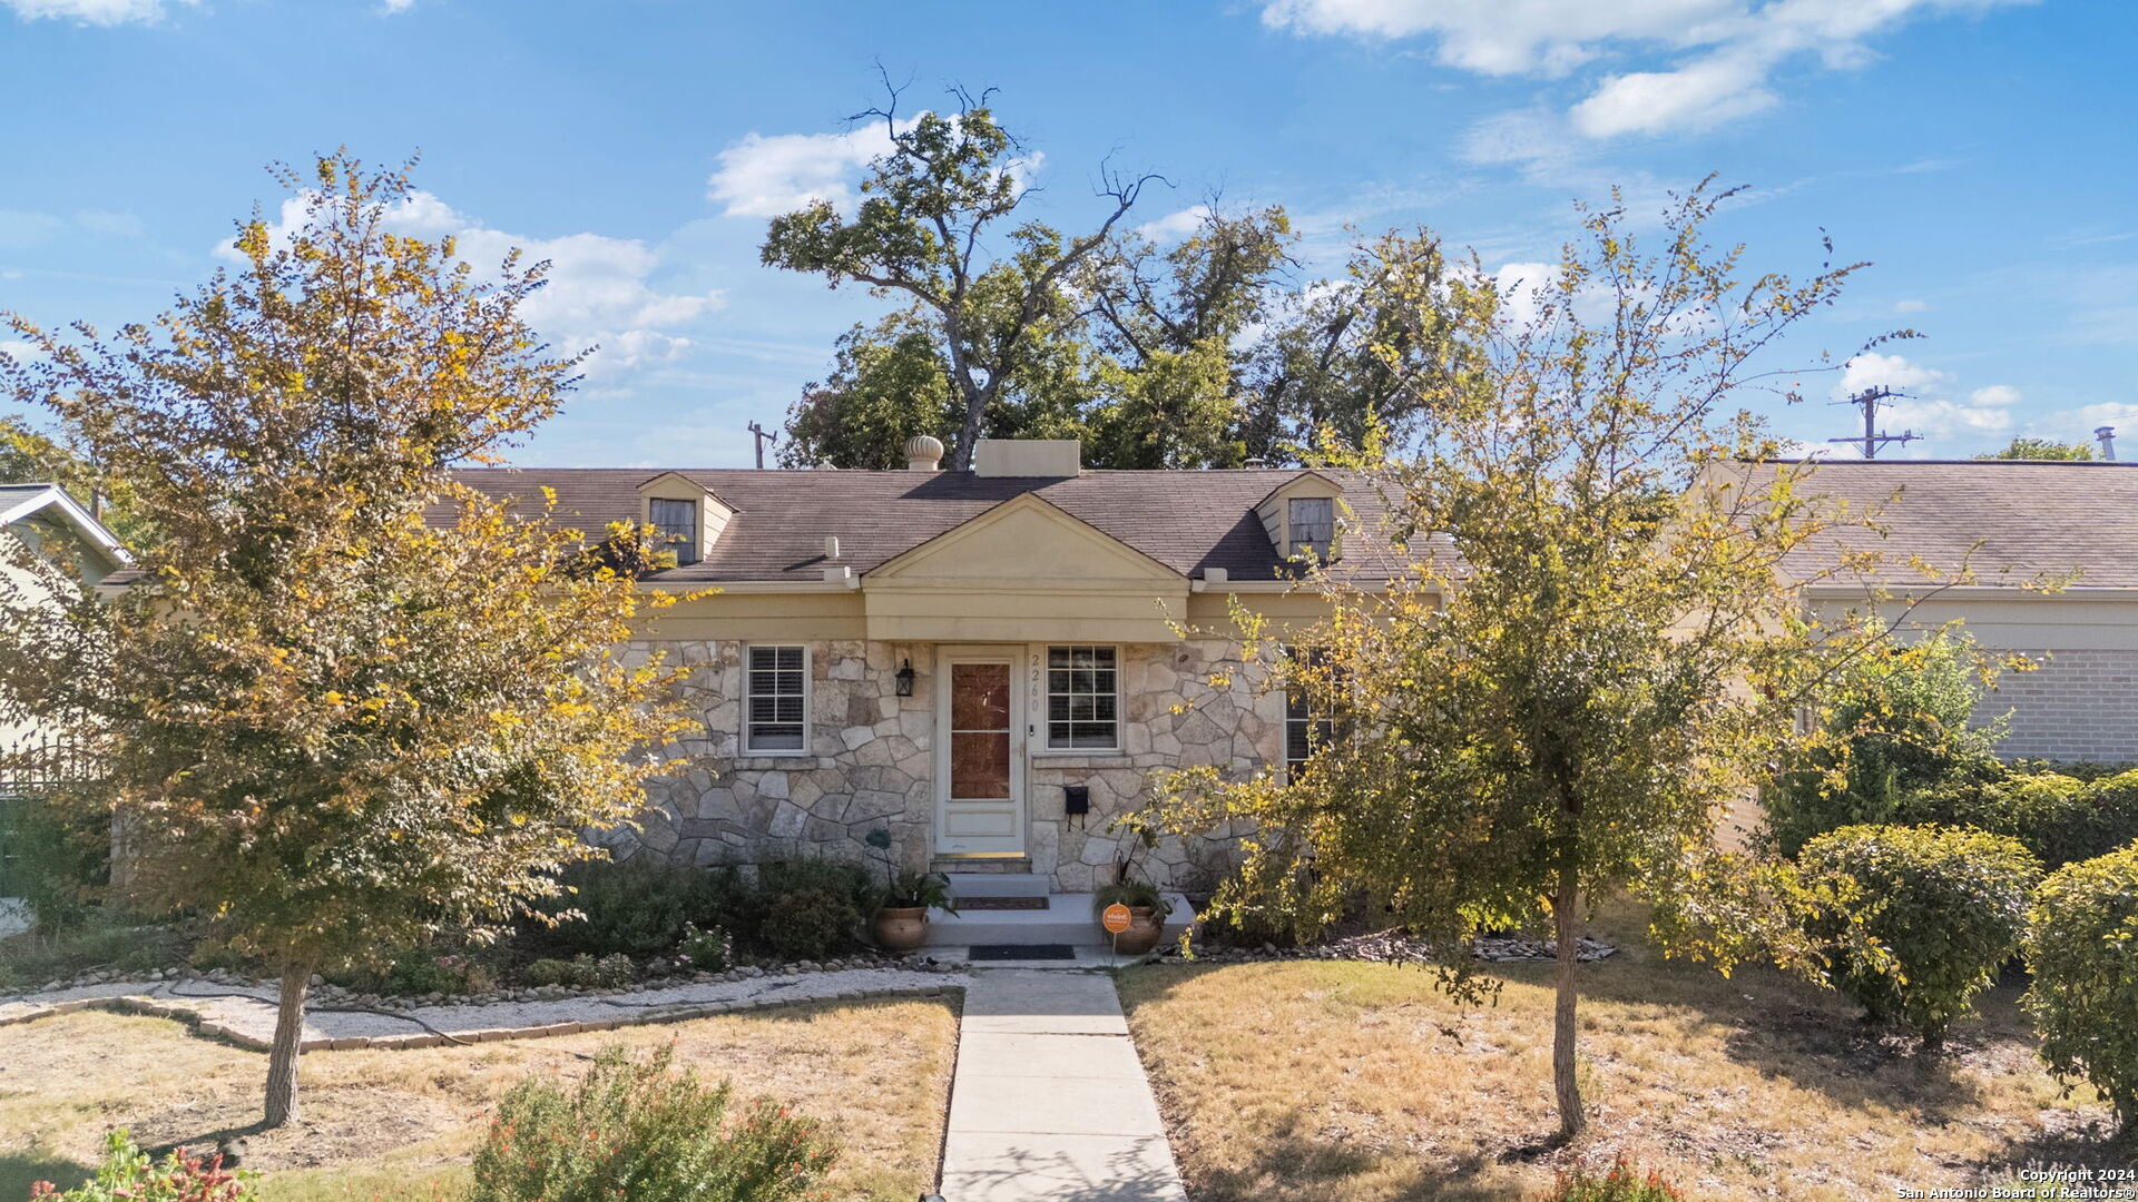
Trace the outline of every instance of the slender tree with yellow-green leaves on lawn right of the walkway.
<instances>
[{"instance_id":1,"label":"slender tree with yellow-green leaves on lawn right of the walkway","mask_svg":"<svg viewBox=\"0 0 2138 1202\"><path fill-rule=\"evenodd\" d=\"M1715 860L1717 819L1783 757L1804 691L1888 633L1813 620L1819 573L1785 560L1862 518L1822 509L1811 468L1775 462L1738 409L1745 389L1790 394L1777 338L1854 267L1742 278L1740 250L1702 233L1723 197L1678 199L1659 252L1612 207L1544 278L1503 284L1473 261L1411 291L1417 325L1447 338L1405 374L1415 445L1366 468L1394 580L1353 588L1370 552L1341 550L1311 573L1332 616L1274 652L1234 614L1244 661L1321 719L1315 755L1291 779L1174 774L1140 817L1249 832L1217 915L1311 935L1364 903L1426 937L1458 995L1488 988L1479 930L1550 926L1563 1138L1584 1125L1584 909L1631 888L1676 920L1678 950L1740 954L1757 913L1715 905L1751 879Z\"/></svg>"}]
</instances>

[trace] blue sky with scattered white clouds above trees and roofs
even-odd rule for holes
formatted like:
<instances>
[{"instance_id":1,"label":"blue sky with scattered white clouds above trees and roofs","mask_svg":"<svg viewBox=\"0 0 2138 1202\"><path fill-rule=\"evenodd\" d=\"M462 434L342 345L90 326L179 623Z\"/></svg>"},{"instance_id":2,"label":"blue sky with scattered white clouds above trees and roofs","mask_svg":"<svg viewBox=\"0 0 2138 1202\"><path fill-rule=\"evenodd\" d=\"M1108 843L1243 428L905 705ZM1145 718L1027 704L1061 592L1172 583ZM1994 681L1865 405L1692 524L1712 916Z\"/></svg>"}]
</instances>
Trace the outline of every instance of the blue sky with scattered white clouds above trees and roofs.
<instances>
[{"instance_id":1,"label":"blue sky with scattered white clouds above trees and roofs","mask_svg":"<svg viewBox=\"0 0 2138 1202\"><path fill-rule=\"evenodd\" d=\"M1822 229L1875 261L1800 357L1926 334L1822 398L1914 394L1911 456L2100 423L2138 453L2132 49L2121 0L0 0L0 308L152 317L278 201L265 163L421 150L415 218L549 257L532 317L603 346L520 462L740 466L887 304L757 263L768 214L851 195L881 60L913 107L998 88L1041 216L1097 220L1101 163L1161 171L1142 222L1281 203L1306 278L1347 227L1550 261L1569 201L1715 171L1755 265L1815 267Z\"/></svg>"}]
</instances>

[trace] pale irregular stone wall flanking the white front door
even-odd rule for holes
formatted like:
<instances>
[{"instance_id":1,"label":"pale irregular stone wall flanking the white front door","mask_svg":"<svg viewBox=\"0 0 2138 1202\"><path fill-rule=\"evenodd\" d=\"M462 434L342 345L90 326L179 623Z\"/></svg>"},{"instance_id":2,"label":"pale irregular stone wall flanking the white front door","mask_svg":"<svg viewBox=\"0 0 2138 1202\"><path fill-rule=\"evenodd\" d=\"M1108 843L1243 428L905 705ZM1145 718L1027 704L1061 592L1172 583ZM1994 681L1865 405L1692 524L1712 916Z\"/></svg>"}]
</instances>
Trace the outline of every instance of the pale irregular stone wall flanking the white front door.
<instances>
[{"instance_id":1,"label":"pale irregular stone wall flanking the white front door","mask_svg":"<svg viewBox=\"0 0 2138 1202\"><path fill-rule=\"evenodd\" d=\"M892 642L810 644L810 753L740 755L742 642L637 642L691 667L684 691L703 731L673 749L688 772L648 785L641 832L609 834L618 858L656 853L686 864L742 864L774 856L874 860L872 830L889 830L892 856L926 866L934 811L934 648ZM1033 870L1060 892L1105 883L1122 838L1107 823L1133 808L1152 770L1221 764L1249 772L1281 755L1283 697L1257 697L1242 674L1227 689L1210 669L1234 644L1122 646L1122 749L1033 755L1028 853ZM896 695L898 665L911 659L911 697ZM1065 785L1090 785L1093 813L1065 817ZM1223 834L1223 832L1219 832ZM1140 860L1159 883L1191 883L1225 856L1223 838L1182 847L1165 841ZM1199 868L1204 866L1204 868Z\"/></svg>"}]
</instances>

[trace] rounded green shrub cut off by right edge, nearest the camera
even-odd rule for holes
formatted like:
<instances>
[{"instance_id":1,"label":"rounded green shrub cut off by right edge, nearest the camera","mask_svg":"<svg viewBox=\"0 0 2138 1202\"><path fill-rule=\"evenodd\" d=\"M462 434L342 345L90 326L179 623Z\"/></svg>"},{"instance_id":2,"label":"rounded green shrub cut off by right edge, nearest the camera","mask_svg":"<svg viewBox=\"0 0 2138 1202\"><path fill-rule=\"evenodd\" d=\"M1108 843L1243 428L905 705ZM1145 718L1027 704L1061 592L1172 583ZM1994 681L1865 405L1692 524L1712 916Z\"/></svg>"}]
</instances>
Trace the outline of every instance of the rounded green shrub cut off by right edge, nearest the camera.
<instances>
[{"instance_id":1,"label":"rounded green shrub cut off by right edge, nearest the camera","mask_svg":"<svg viewBox=\"0 0 2138 1202\"><path fill-rule=\"evenodd\" d=\"M2123 1125L2138 1127L2138 843L2042 881L2027 967L2042 1059L2091 1080Z\"/></svg>"}]
</instances>

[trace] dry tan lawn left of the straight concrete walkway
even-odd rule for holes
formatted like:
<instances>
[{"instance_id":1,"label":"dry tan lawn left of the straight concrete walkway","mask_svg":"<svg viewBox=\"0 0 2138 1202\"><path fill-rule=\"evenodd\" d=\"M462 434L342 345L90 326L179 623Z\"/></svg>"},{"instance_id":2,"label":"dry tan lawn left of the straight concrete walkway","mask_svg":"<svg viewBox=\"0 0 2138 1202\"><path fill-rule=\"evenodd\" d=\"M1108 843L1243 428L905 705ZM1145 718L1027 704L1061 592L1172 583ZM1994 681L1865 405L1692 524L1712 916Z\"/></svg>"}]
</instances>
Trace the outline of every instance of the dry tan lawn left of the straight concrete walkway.
<instances>
[{"instance_id":1,"label":"dry tan lawn left of the straight concrete walkway","mask_svg":"<svg viewBox=\"0 0 2138 1202\"><path fill-rule=\"evenodd\" d=\"M676 1042L676 1061L827 1123L836 1198L911 1202L934 1183L958 1014L945 1001L795 1005L671 1027L304 1057L301 1116L248 1138L267 1202L451 1196L492 1104L522 1076L577 1076L605 1044ZM0 1200L79 1181L103 1134L143 1146L214 1142L259 1116L267 1059L162 1018L100 1012L0 1029Z\"/></svg>"}]
</instances>

